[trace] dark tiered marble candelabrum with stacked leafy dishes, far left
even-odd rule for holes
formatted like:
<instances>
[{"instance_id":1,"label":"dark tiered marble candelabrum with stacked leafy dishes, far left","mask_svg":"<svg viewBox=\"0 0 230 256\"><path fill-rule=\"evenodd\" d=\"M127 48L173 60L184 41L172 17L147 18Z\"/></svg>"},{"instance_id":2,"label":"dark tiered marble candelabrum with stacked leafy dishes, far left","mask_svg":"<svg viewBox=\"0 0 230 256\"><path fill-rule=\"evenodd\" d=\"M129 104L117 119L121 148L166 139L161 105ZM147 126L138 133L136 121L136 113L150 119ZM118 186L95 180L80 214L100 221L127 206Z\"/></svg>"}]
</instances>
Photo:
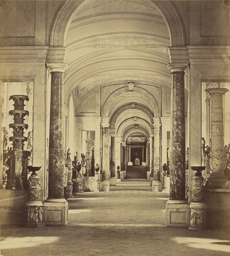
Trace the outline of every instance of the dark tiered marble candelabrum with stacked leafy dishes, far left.
<instances>
[{"instance_id":1,"label":"dark tiered marble candelabrum with stacked leafy dishes, far left","mask_svg":"<svg viewBox=\"0 0 230 256\"><path fill-rule=\"evenodd\" d=\"M24 117L29 115L29 111L24 110L24 101L29 101L29 97L12 95L9 100L14 101L14 110L9 111L9 114L14 117L14 122L9 124L9 127L13 128L13 136L9 137L9 140L13 142L13 150L9 151L10 169L6 189L26 189L28 151L24 150L24 142L27 141L24 129L27 129L28 125L24 123Z\"/></svg>"}]
</instances>

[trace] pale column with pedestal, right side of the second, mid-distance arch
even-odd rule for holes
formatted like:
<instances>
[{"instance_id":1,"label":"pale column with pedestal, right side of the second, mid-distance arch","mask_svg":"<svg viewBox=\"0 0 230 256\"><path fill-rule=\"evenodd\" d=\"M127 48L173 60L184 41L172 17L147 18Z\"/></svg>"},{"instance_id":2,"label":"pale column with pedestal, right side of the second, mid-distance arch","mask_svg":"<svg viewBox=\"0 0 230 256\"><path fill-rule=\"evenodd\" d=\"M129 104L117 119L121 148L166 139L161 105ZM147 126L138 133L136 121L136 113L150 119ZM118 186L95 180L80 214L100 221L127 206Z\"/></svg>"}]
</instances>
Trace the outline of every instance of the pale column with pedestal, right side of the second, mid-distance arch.
<instances>
[{"instance_id":1,"label":"pale column with pedestal, right side of the second, mid-distance arch","mask_svg":"<svg viewBox=\"0 0 230 256\"><path fill-rule=\"evenodd\" d=\"M162 191L162 183L160 181L160 126L160 118L157 120L154 118L153 191Z\"/></svg>"}]
</instances>

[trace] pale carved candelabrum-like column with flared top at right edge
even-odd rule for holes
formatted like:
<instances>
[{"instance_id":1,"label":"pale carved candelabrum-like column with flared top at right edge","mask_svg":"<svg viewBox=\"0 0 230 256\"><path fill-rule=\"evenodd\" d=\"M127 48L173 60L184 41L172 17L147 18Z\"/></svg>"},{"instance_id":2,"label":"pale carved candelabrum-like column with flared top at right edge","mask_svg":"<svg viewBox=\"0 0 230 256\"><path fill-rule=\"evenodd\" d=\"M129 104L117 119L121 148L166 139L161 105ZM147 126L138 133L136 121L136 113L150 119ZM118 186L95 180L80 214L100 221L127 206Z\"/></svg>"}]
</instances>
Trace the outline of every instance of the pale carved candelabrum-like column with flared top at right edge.
<instances>
[{"instance_id":1,"label":"pale carved candelabrum-like column with flared top at right edge","mask_svg":"<svg viewBox=\"0 0 230 256\"><path fill-rule=\"evenodd\" d=\"M211 175L207 186L210 188L229 188L230 182L223 174L226 166L224 149L224 120L223 120L223 96L229 90L227 88L208 88L205 90L211 95L211 154L209 167Z\"/></svg>"}]
</instances>

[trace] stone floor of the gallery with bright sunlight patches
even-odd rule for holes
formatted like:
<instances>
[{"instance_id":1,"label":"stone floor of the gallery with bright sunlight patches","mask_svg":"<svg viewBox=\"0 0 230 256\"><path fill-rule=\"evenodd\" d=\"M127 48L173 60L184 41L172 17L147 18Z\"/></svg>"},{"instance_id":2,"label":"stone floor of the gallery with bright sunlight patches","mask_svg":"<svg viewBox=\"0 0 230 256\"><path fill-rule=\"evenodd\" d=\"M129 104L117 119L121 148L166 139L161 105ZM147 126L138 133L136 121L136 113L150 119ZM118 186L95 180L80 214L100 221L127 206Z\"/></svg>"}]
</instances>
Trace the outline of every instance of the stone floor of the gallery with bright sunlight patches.
<instances>
[{"instance_id":1,"label":"stone floor of the gallery with bright sunlight patches","mask_svg":"<svg viewBox=\"0 0 230 256\"><path fill-rule=\"evenodd\" d=\"M230 225L165 227L168 192L149 182L120 182L110 192L69 199L69 224L40 229L2 225L3 256L229 256Z\"/></svg>"}]
</instances>

